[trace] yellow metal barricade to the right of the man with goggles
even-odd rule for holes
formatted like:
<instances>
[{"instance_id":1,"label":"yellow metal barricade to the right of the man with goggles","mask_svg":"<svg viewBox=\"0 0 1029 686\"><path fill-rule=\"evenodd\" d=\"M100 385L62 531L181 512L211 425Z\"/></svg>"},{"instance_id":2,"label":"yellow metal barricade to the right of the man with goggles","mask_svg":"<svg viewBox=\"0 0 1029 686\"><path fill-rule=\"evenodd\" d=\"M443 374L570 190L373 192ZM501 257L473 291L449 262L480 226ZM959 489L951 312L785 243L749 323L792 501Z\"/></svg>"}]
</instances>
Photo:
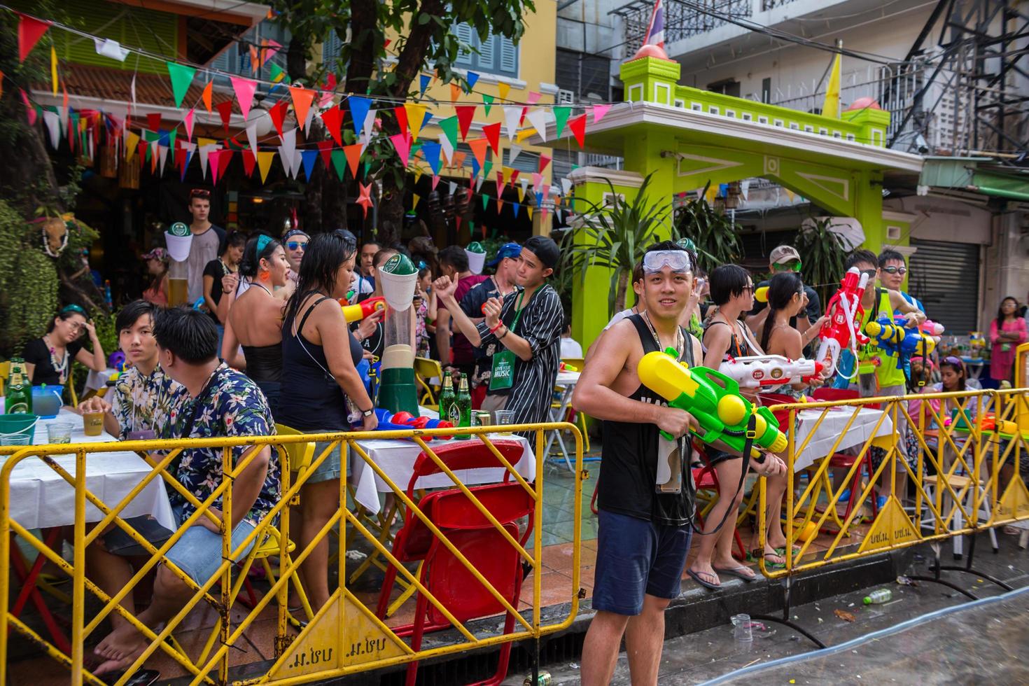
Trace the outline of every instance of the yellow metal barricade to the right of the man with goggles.
<instances>
[{"instance_id":1,"label":"yellow metal barricade to the right of the man with goggles","mask_svg":"<svg viewBox=\"0 0 1029 686\"><path fill-rule=\"evenodd\" d=\"M1005 462L1025 461L1029 403L1024 390L800 402L771 409L780 416L788 413L788 422L781 427L788 437L787 452L781 456L786 463L783 530L786 539L800 548L786 546L784 569L769 569L761 559L761 573L769 578L1029 519L1029 493L1017 470L1009 482L1001 471ZM1019 424L1027 430L1004 440L989 429L994 421L1004 428ZM819 435L823 424L832 428ZM903 440L897 427L904 427L909 440ZM854 441L855 435L860 440ZM815 444L820 447L813 448ZM852 460L838 462L851 463L841 480L831 474L830 462L844 447ZM817 455L812 456L813 452ZM865 468L870 477L863 479ZM806 482L801 472L806 472ZM907 479L914 502L904 507L890 495L867 530L859 532L866 506L884 479L883 490L888 494L901 493ZM845 504L841 495L848 485L858 495L843 517L838 506ZM759 479L758 488L758 529L764 543L769 505L766 478ZM779 511L777 504L772 508ZM824 532L826 525L833 527L824 547L814 545L816 536L801 538L812 527Z\"/></svg>"}]
</instances>

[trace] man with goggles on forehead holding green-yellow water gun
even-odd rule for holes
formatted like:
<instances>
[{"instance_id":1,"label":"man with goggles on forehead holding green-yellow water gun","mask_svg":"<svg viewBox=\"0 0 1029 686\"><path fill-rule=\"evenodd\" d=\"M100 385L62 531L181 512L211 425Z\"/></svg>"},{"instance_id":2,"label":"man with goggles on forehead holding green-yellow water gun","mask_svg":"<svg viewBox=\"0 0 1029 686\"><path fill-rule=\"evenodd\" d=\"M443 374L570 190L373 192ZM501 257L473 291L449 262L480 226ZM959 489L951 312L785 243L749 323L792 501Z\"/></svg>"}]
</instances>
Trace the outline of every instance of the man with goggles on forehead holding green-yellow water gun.
<instances>
[{"instance_id":1,"label":"man with goggles on forehead holding green-yellow water gun","mask_svg":"<svg viewBox=\"0 0 1029 686\"><path fill-rule=\"evenodd\" d=\"M668 349L689 366L702 359L700 341L678 325L693 289L695 263L689 252L671 242L647 250L643 311L611 326L595 344L596 354L572 399L577 410L604 421L596 615L582 649L586 686L610 682L624 634L633 683L658 681L664 611L679 593L689 549L694 503L688 434L697 422L644 386L638 367L646 354ZM674 457L678 459L668 459ZM761 469L781 473L785 466L767 457Z\"/></svg>"}]
</instances>

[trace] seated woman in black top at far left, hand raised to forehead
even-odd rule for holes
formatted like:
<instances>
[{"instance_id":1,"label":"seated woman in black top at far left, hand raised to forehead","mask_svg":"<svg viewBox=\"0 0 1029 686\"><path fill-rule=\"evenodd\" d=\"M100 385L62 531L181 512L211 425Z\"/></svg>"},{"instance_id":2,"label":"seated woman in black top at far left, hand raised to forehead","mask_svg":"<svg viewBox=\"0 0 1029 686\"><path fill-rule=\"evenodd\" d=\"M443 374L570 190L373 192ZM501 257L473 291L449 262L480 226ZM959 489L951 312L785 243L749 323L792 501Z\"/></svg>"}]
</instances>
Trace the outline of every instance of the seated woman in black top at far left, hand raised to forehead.
<instances>
[{"instance_id":1,"label":"seated woman in black top at far left, hand raised to forehead","mask_svg":"<svg viewBox=\"0 0 1029 686\"><path fill-rule=\"evenodd\" d=\"M83 333L90 334L93 345L91 353L80 341ZM71 377L71 364L76 361L94 371L107 368L104 353L93 321L85 316L85 310L77 304L66 305L50 320L43 337L30 340L22 353L29 381L34 386L64 386Z\"/></svg>"}]
</instances>

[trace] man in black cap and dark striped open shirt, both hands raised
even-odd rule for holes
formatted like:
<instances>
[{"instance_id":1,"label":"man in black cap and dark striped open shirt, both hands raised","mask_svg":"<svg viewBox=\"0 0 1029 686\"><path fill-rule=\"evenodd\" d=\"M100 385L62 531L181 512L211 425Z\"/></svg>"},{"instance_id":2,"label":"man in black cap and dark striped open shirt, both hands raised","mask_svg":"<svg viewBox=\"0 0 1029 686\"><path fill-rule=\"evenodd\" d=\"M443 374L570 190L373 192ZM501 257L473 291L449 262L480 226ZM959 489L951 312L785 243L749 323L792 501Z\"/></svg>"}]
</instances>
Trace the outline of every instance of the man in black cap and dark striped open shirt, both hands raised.
<instances>
[{"instance_id":1,"label":"man in black cap and dark striped open shirt, both hands raised","mask_svg":"<svg viewBox=\"0 0 1029 686\"><path fill-rule=\"evenodd\" d=\"M486 319L477 326L458 306L453 280L440 277L433 286L457 327L473 346L486 349L491 374L483 409L510 410L514 424L545 422L549 416L565 313L546 278L554 274L559 257L553 240L534 236L526 241L514 276L518 288L502 299L487 300Z\"/></svg>"}]
</instances>

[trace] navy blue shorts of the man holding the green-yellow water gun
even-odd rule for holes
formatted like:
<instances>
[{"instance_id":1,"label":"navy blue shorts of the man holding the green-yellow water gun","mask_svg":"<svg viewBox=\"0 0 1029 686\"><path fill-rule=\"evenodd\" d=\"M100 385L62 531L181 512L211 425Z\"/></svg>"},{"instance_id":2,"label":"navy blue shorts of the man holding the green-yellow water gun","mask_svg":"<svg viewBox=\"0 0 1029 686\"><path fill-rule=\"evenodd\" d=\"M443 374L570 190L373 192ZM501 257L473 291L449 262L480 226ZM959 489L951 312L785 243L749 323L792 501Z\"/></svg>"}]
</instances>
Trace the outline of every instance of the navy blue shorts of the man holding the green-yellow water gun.
<instances>
[{"instance_id":1,"label":"navy blue shorts of the man holding the green-yellow water gun","mask_svg":"<svg viewBox=\"0 0 1029 686\"><path fill-rule=\"evenodd\" d=\"M593 609L619 615L643 611L643 595L679 594L689 552L689 525L671 527L600 510Z\"/></svg>"}]
</instances>

